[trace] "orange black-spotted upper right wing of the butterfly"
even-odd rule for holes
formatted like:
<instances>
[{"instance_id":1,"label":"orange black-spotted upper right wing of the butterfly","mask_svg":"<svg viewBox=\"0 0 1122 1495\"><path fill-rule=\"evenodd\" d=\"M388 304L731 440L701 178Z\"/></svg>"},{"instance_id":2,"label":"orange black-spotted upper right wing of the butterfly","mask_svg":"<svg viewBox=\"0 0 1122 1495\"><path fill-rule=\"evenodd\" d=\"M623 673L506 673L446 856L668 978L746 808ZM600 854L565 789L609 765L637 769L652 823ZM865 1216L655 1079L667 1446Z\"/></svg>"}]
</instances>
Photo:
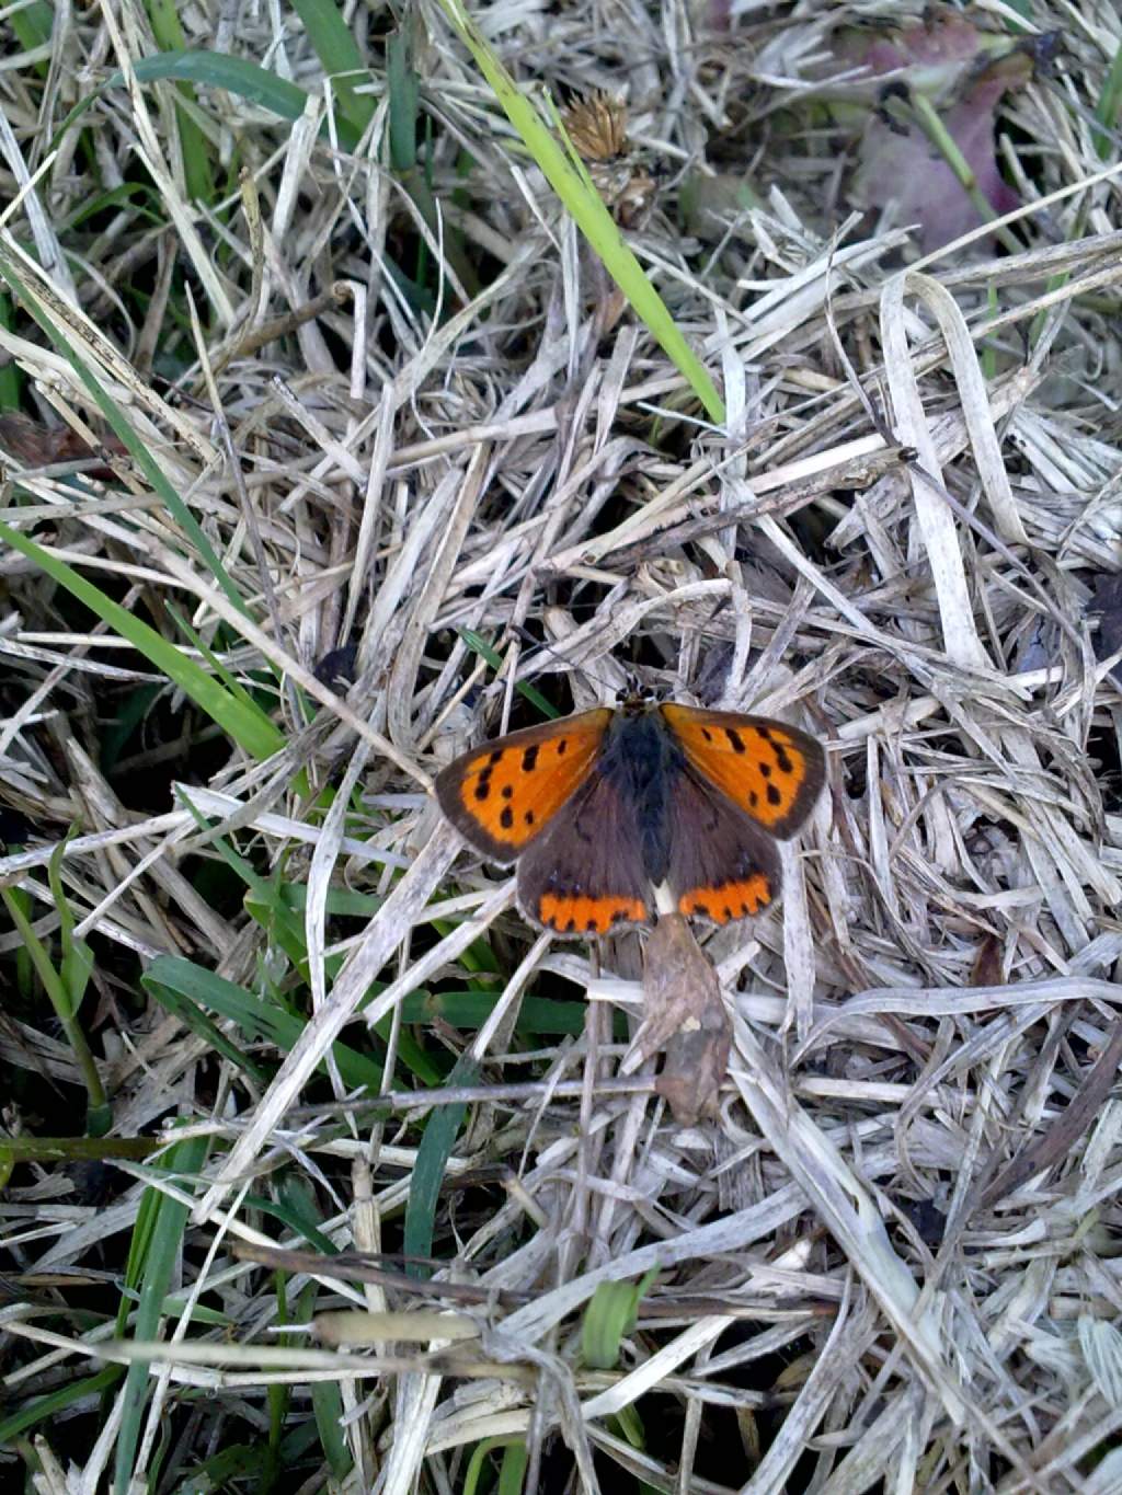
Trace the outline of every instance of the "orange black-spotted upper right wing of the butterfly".
<instances>
[{"instance_id":1,"label":"orange black-spotted upper right wing of the butterfly","mask_svg":"<svg viewBox=\"0 0 1122 1495\"><path fill-rule=\"evenodd\" d=\"M787 840L814 809L826 776L821 745L767 716L660 707L685 759L769 836Z\"/></svg>"}]
</instances>

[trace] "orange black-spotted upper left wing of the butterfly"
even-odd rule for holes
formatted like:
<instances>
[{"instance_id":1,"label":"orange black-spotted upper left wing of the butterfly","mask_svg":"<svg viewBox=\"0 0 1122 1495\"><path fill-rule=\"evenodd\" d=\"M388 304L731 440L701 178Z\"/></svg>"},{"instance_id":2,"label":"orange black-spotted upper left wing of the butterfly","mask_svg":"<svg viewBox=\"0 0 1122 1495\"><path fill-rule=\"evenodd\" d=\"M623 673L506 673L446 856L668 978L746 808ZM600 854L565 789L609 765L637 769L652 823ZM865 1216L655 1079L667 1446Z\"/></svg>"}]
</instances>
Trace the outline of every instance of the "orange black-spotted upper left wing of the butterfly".
<instances>
[{"instance_id":1,"label":"orange black-spotted upper left wing of the butterfly","mask_svg":"<svg viewBox=\"0 0 1122 1495\"><path fill-rule=\"evenodd\" d=\"M489 861L515 861L588 779L610 719L600 707L471 748L437 774L441 810Z\"/></svg>"}]
</instances>

